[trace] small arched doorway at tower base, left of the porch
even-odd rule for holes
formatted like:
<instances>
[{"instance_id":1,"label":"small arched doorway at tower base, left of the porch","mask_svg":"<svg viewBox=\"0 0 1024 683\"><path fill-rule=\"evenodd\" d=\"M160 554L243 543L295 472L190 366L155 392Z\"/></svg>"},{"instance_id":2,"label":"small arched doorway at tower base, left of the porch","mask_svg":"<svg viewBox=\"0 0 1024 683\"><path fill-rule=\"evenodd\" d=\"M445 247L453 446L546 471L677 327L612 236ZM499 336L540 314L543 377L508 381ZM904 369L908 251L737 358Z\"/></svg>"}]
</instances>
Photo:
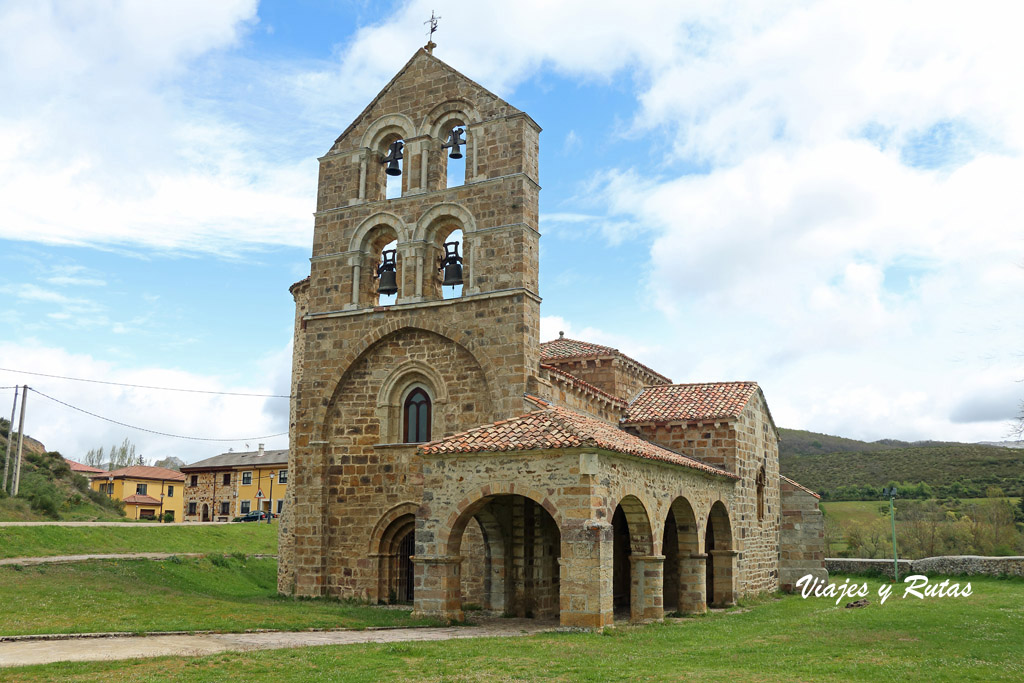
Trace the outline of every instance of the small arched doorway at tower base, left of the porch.
<instances>
[{"instance_id":1,"label":"small arched doorway at tower base, left of the porch","mask_svg":"<svg viewBox=\"0 0 1024 683\"><path fill-rule=\"evenodd\" d=\"M410 535L415 539L415 503L401 503L378 520L370 537L370 557L377 560L377 601L409 602L413 597Z\"/></svg>"}]
</instances>

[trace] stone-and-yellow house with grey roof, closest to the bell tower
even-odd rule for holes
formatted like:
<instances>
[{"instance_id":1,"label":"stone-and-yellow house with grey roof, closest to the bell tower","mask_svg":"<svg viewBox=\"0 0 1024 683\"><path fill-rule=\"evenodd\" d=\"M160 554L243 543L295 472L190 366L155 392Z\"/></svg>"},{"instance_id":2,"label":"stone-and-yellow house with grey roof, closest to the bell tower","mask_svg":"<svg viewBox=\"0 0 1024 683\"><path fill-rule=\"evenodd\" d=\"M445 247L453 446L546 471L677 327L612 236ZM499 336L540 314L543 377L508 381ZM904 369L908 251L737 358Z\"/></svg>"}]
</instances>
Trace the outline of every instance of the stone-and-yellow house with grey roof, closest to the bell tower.
<instances>
[{"instance_id":1,"label":"stone-and-yellow house with grey roof, closest to the bell tower","mask_svg":"<svg viewBox=\"0 0 1024 683\"><path fill-rule=\"evenodd\" d=\"M230 521L264 510L281 514L288 490L288 451L222 453L184 465L184 521Z\"/></svg>"}]
</instances>

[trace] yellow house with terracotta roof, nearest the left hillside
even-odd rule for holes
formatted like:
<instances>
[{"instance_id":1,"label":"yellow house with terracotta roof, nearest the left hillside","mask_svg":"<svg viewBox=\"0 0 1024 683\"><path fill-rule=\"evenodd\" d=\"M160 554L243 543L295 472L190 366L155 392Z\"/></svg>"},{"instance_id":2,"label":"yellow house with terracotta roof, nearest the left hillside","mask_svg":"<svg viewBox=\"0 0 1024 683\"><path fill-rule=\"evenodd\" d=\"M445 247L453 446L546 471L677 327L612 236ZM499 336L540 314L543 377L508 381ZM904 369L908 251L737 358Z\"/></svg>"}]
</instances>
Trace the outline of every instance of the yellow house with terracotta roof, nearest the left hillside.
<instances>
[{"instance_id":1,"label":"yellow house with terracotta roof, nearest the left hillside","mask_svg":"<svg viewBox=\"0 0 1024 683\"><path fill-rule=\"evenodd\" d=\"M161 519L170 512L171 521L181 521L185 475L180 472L132 465L90 478L93 490L124 501L130 519Z\"/></svg>"}]
</instances>

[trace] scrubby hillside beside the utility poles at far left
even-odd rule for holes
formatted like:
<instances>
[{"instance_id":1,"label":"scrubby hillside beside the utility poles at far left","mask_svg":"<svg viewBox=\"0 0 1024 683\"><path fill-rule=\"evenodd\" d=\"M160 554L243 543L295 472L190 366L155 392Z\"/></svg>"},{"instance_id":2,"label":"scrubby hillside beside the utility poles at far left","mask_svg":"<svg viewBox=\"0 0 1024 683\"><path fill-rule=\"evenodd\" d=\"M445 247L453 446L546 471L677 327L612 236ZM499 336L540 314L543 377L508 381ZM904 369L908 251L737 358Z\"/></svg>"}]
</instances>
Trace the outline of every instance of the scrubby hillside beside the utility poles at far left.
<instances>
[{"instance_id":1,"label":"scrubby hillside beside the utility poles at far left","mask_svg":"<svg viewBox=\"0 0 1024 683\"><path fill-rule=\"evenodd\" d=\"M7 420L0 420L0 475L7 453L8 428ZM16 452L16 441L13 445ZM46 446L27 434L18 495L11 498L0 490L0 521L46 519L120 521L124 519L124 506L91 490L89 480L72 472L59 453L47 452Z\"/></svg>"}]
</instances>

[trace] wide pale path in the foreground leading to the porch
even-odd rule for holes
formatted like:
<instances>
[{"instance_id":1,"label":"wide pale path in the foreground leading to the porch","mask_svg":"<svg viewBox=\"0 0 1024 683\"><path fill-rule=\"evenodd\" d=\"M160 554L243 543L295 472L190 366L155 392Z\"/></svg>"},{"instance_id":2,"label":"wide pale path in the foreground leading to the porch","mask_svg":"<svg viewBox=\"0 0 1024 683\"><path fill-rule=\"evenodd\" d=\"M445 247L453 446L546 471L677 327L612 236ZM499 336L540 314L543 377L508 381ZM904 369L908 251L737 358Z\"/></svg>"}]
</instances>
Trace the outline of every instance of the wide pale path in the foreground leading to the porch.
<instances>
[{"instance_id":1,"label":"wide pale path in the foreground leading to the porch","mask_svg":"<svg viewBox=\"0 0 1024 683\"><path fill-rule=\"evenodd\" d=\"M0 667L53 661L97 661L157 656L202 656L225 651L267 650L308 645L394 643L455 638L525 636L557 628L553 621L485 617L479 626L318 631L221 633L172 636L88 637L63 640L20 639L0 642Z\"/></svg>"}]
</instances>

